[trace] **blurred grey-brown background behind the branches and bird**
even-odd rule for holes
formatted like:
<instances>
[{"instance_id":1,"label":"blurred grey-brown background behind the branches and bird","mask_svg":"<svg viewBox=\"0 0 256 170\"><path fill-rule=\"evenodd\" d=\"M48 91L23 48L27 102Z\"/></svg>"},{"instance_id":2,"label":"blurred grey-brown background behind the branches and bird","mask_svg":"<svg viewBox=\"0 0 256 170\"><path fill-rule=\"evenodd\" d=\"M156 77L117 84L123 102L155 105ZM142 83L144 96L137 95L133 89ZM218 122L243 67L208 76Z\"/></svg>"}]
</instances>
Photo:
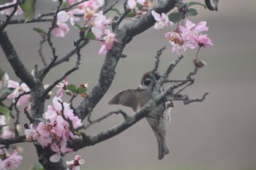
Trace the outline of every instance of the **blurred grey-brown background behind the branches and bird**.
<instances>
[{"instance_id":1,"label":"blurred grey-brown background behind the branches and bird","mask_svg":"<svg viewBox=\"0 0 256 170\"><path fill-rule=\"evenodd\" d=\"M200 1L203 2L203 1ZM170 170L254 170L256 169L256 1L219 0L219 11L211 12L201 6L195 7L199 13L190 18L194 23L207 21L208 36L213 47L200 50L199 58L208 64L195 76L195 84L187 88L191 98L200 98L208 92L206 100L200 103L184 105L176 101L171 113L166 142L170 154L162 161L157 160L157 139L146 120L128 128L124 133L92 147L67 155L73 160L82 155L86 163L81 169L170 169ZM120 1L118 7L122 6ZM37 14L54 9L56 4L50 0L37 2ZM114 13L110 12L108 16ZM129 22L129 20L125 20ZM34 26L48 29L50 23L29 23L7 26L10 36L23 63L32 70L35 64L42 68L38 56L40 36L32 31ZM123 109L132 114L132 109L109 106L107 103L120 90L137 88L144 72L154 66L154 55L166 45L161 56L159 72L165 72L170 61L177 55L164 34L170 28L157 31L150 28L132 39L124 49L127 58L122 58L116 67L116 78L108 93L93 111L92 119L107 112ZM78 39L78 30L71 28L65 38L53 38L59 57L73 48ZM91 42L82 50L80 69L69 76L69 83L80 85L89 83L89 91L97 83L99 70L104 56L97 54L100 42ZM44 45L43 53L50 61L50 48ZM170 75L173 80L181 80L192 71L192 59L196 50L188 50L185 58ZM69 63L52 69L45 84L50 84L61 74L75 65L75 56ZM0 66L18 81L7 59L0 49ZM55 93L55 91L53 91ZM82 98L78 97L75 104ZM51 99L48 100L51 104ZM23 123L27 123L22 115ZM96 134L110 128L122 120L115 115L108 120L92 125L86 134ZM87 122L84 121L86 124ZM21 132L22 134L22 132ZM20 169L29 169L31 163L37 163L36 150L32 144L20 144L24 147L23 163Z\"/></svg>"}]
</instances>

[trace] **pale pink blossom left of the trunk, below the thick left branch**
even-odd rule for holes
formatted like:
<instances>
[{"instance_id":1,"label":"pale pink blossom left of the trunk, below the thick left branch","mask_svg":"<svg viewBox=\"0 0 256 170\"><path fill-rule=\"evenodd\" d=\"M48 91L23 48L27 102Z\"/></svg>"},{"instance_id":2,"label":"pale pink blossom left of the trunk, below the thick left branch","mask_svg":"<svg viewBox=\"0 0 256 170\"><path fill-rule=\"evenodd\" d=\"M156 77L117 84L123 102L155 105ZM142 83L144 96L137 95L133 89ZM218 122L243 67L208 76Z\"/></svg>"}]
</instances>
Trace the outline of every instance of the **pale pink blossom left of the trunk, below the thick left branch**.
<instances>
[{"instance_id":1,"label":"pale pink blossom left of the trunk, below the thick left branch","mask_svg":"<svg viewBox=\"0 0 256 170\"><path fill-rule=\"evenodd\" d=\"M16 98L20 94L30 91L29 87L24 82L21 83L21 85L20 85L20 83L12 81L12 80L8 81L7 88L15 88L15 90L13 90L13 92L10 95L8 95L7 98ZM26 104L26 101L28 101L29 98L30 98L29 94L20 96L17 105L19 106L19 105ZM13 99L13 102L15 102L15 99Z\"/></svg>"}]
</instances>

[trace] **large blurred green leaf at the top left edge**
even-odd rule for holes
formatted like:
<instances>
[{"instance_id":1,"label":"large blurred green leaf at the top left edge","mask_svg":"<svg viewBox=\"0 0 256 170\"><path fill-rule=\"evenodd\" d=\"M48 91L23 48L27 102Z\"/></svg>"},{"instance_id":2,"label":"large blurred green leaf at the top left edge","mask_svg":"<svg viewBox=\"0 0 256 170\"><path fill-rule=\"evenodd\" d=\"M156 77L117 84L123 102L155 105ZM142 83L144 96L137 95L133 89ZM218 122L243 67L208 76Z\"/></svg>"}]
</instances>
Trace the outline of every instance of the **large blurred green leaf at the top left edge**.
<instances>
[{"instance_id":1,"label":"large blurred green leaf at the top left edge","mask_svg":"<svg viewBox=\"0 0 256 170\"><path fill-rule=\"evenodd\" d=\"M33 20L34 12L36 10L37 0L26 0L23 4L20 4L23 10L23 15L26 20Z\"/></svg>"}]
</instances>

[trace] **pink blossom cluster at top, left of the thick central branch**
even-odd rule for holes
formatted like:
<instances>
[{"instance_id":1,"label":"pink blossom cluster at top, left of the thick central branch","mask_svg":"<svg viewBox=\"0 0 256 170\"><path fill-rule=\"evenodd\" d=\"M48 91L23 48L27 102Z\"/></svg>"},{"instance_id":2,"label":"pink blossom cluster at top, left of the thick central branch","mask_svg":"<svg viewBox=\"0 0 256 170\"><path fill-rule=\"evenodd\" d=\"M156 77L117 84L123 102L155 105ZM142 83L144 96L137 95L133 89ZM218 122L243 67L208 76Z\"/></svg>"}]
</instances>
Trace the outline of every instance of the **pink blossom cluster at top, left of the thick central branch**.
<instances>
[{"instance_id":1,"label":"pink blossom cluster at top, left of the thick central branch","mask_svg":"<svg viewBox=\"0 0 256 170\"><path fill-rule=\"evenodd\" d=\"M73 4L75 1L69 1L69 4ZM57 15L58 22L56 23L56 28L53 29L53 34L55 36L64 37L65 34L69 31L69 27L65 23L69 20L72 26L76 26L80 29L91 28L92 33L96 39L99 39L103 36L101 48L99 50L99 55L105 55L113 47L113 43L116 42L116 34L110 32L109 29L105 29L105 26L108 26L112 23L112 19L108 19L103 15L102 11L97 12L99 7L104 5L105 1L103 0L90 0L85 1L78 5L78 8L71 9L68 12L60 11ZM83 26L78 25L77 21L79 18L75 18L75 15L83 14ZM102 35L104 32L104 35Z\"/></svg>"}]
</instances>

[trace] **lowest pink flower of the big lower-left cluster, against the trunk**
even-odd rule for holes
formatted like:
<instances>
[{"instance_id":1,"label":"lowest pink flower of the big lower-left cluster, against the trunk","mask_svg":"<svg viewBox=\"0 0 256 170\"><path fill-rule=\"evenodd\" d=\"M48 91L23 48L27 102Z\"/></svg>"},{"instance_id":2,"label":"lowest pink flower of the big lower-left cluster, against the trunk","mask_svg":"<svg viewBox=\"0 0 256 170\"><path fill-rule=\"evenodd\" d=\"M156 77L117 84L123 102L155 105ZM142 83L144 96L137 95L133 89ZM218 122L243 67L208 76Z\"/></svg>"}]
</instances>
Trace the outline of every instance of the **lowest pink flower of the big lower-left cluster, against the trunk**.
<instances>
[{"instance_id":1,"label":"lowest pink flower of the big lower-left cluster, against the trunk","mask_svg":"<svg viewBox=\"0 0 256 170\"><path fill-rule=\"evenodd\" d=\"M50 156L51 162L59 162L59 160L61 159L61 154L73 151L72 149L67 147L67 142L65 142L64 140L61 141L60 146L61 148L59 149L58 145L55 142L53 142L53 144L50 146L51 150L53 150L53 152L56 152L55 154Z\"/></svg>"}]
</instances>

